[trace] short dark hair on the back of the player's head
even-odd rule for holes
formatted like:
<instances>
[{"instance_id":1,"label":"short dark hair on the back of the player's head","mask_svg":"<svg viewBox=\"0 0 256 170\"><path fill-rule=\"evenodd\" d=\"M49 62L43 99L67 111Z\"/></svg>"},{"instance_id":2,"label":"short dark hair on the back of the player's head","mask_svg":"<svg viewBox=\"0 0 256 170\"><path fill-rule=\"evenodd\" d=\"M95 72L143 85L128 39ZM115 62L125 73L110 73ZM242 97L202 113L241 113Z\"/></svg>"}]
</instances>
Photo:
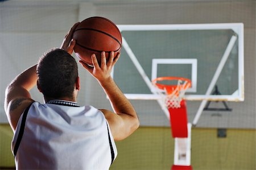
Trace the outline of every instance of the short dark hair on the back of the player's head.
<instances>
[{"instance_id":1,"label":"short dark hair on the back of the player's head","mask_svg":"<svg viewBox=\"0 0 256 170\"><path fill-rule=\"evenodd\" d=\"M68 52L53 48L44 53L38 61L36 73L45 97L73 97L78 69L76 60Z\"/></svg>"}]
</instances>

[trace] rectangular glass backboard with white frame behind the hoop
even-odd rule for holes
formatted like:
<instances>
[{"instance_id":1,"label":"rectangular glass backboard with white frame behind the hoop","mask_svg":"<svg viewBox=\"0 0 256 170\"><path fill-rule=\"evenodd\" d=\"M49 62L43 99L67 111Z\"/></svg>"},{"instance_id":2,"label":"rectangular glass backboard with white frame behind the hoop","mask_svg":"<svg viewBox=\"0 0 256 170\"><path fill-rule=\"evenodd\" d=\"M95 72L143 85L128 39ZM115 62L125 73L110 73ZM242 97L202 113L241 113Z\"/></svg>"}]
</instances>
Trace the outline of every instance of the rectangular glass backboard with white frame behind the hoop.
<instances>
[{"instance_id":1,"label":"rectangular glass backboard with white frame behind the hoop","mask_svg":"<svg viewBox=\"0 0 256 170\"><path fill-rule=\"evenodd\" d=\"M112 76L127 98L159 99L151 80L185 77L185 99L244 100L242 23L118 27L123 44Z\"/></svg>"}]
</instances>

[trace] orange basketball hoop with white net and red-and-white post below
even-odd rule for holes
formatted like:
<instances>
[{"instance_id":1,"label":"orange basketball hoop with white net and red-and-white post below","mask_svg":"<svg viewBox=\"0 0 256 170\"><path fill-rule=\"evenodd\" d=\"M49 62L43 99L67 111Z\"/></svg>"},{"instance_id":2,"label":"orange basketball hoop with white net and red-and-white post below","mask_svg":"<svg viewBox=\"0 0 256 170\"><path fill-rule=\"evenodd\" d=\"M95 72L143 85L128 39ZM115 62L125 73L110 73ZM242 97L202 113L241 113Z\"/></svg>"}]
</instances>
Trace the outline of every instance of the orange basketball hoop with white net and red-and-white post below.
<instances>
[{"instance_id":1,"label":"orange basketball hoop with white net and red-and-white post below","mask_svg":"<svg viewBox=\"0 0 256 170\"><path fill-rule=\"evenodd\" d=\"M160 84L158 81L177 81L176 85ZM172 138L175 139L174 165L172 169L192 169L191 159L191 124L188 123L187 106L183 99L191 80L183 77L158 77L152 80L152 84L159 90L156 92L162 96L170 114Z\"/></svg>"}]
</instances>

